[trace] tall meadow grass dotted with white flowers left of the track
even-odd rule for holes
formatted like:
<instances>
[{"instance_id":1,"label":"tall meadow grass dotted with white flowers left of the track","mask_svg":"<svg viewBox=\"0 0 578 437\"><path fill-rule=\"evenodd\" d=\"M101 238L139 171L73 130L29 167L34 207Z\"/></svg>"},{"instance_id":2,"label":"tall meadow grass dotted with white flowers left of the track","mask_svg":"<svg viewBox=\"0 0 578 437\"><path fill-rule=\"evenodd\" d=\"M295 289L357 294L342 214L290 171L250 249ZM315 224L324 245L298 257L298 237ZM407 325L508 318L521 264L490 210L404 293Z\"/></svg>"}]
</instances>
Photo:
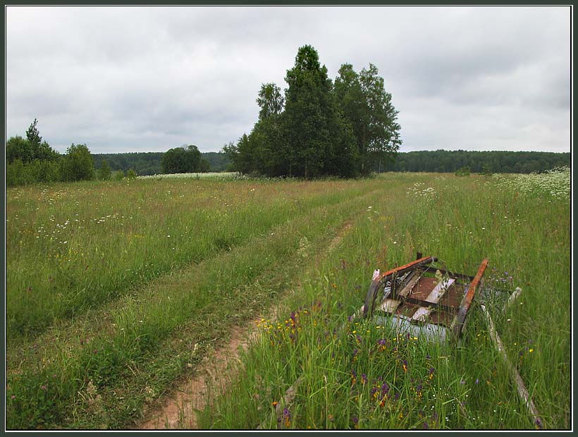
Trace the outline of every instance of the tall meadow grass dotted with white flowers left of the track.
<instances>
[{"instance_id":1,"label":"tall meadow grass dotted with white flowers left of the track","mask_svg":"<svg viewBox=\"0 0 578 437\"><path fill-rule=\"evenodd\" d=\"M338 202L346 187L302 186L139 180L8 190L8 338L39 333L131 285Z\"/></svg>"}]
</instances>

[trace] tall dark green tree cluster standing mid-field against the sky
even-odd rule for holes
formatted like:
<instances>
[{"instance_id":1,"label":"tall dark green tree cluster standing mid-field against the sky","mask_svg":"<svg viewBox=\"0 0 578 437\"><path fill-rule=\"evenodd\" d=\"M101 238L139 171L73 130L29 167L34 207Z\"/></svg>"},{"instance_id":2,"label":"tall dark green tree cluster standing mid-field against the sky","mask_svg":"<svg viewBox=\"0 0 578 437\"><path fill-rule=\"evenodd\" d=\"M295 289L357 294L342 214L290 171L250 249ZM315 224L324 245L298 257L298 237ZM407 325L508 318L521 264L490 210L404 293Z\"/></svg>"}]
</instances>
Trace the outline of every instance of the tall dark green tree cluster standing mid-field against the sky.
<instances>
[{"instance_id":1,"label":"tall dark green tree cluster standing mid-field against the sky","mask_svg":"<svg viewBox=\"0 0 578 437\"><path fill-rule=\"evenodd\" d=\"M376 66L357 73L345 63L333 83L317 51L305 45L285 82L284 94L273 83L262 85L252 131L223 147L231 169L265 176L353 177L379 171L393 159L401 144L398 111Z\"/></svg>"}]
</instances>

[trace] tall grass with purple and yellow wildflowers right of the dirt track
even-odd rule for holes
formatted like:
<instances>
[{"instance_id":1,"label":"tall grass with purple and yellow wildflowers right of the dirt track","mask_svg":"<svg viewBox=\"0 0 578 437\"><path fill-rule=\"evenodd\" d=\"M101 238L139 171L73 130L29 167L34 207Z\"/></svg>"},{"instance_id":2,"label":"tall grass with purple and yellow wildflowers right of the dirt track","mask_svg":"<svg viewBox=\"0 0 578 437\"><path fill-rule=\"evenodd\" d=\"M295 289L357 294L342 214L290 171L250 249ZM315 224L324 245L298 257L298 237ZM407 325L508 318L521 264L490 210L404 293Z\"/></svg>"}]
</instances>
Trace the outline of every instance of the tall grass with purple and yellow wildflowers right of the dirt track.
<instances>
[{"instance_id":1,"label":"tall grass with purple and yellow wildflowers right of the dirt track","mask_svg":"<svg viewBox=\"0 0 578 437\"><path fill-rule=\"evenodd\" d=\"M568 199L520 196L500 178L407 182L405 198L368 207L280 319L257 324L262 336L245 356L242 380L207 407L202 427L534 429L475 307L463 347L348 322L373 270L417 250L472 275L489 257L486 286L523 289L505 314L492 308L498 331L546 427L570 427ZM548 208L536 208L541 202ZM300 377L294 402L277 416L273 402Z\"/></svg>"}]
</instances>

